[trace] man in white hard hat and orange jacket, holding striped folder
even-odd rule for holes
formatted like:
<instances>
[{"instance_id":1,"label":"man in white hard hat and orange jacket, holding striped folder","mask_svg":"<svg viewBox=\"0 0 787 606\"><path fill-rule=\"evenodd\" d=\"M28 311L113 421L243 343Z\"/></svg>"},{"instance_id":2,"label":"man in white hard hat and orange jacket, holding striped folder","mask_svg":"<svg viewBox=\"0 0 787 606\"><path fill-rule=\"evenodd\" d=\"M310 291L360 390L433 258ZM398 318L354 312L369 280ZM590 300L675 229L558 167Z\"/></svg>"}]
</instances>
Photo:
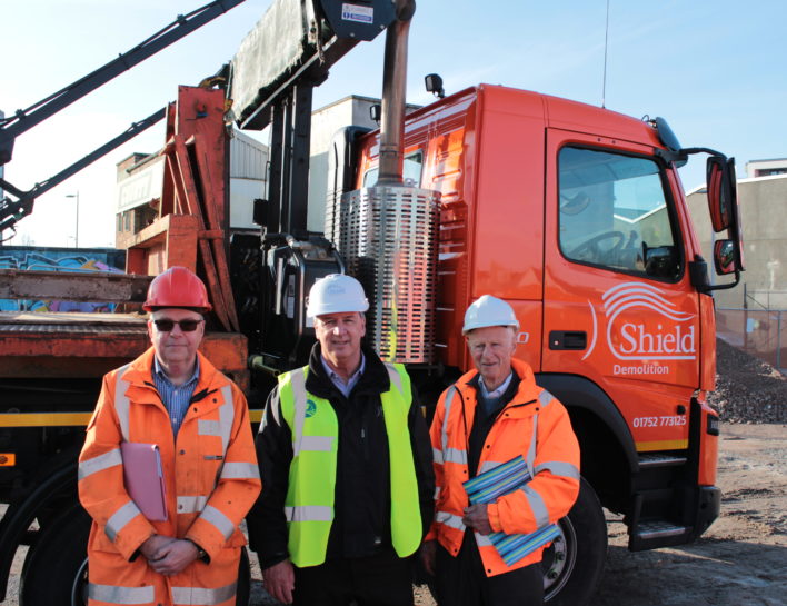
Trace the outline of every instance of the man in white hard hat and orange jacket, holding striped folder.
<instances>
[{"instance_id":1,"label":"man in white hard hat and orange jacket, holding striped folder","mask_svg":"<svg viewBox=\"0 0 787 606\"><path fill-rule=\"evenodd\" d=\"M546 528L579 493L579 446L568 413L514 358L518 330L506 301L489 295L474 301L462 334L476 369L442 393L435 411L435 521L422 556L437 575L440 606L544 604L544 546L507 564L489 535ZM531 479L470 505L464 483L519 456Z\"/></svg>"}]
</instances>

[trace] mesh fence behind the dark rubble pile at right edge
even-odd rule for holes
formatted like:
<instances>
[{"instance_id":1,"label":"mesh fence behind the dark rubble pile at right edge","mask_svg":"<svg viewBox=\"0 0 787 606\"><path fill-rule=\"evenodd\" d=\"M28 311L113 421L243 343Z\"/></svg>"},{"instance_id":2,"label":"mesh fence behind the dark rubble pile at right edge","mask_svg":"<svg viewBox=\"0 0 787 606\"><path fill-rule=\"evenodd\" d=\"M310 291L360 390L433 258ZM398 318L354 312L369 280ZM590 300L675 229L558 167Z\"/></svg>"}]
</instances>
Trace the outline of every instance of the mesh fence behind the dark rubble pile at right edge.
<instances>
[{"instance_id":1,"label":"mesh fence behind the dark rubble pile at right edge","mask_svg":"<svg viewBox=\"0 0 787 606\"><path fill-rule=\"evenodd\" d=\"M787 311L783 309L716 309L716 334L728 344L787 374Z\"/></svg>"}]
</instances>

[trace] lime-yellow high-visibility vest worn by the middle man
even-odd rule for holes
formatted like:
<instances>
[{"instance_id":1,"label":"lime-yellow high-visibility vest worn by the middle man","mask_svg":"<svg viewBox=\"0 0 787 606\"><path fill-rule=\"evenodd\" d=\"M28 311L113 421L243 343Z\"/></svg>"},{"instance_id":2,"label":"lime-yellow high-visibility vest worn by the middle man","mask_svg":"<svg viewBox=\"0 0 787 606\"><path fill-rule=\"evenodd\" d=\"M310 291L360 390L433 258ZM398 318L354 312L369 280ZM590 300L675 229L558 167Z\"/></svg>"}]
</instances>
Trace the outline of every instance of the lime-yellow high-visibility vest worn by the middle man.
<instances>
[{"instance_id":1,"label":"lime-yellow high-visibility vest worn by the middle man","mask_svg":"<svg viewBox=\"0 0 787 606\"><path fill-rule=\"evenodd\" d=\"M391 542L399 557L421 540L418 481L410 447L410 378L401 365L386 362L391 380L380 395L390 457ZM339 427L331 404L306 390L309 367L279 378L281 414L292 434L292 463L285 501L288 550L296 566L326 560L333 521Z\"/></svg>"}]
</instances>

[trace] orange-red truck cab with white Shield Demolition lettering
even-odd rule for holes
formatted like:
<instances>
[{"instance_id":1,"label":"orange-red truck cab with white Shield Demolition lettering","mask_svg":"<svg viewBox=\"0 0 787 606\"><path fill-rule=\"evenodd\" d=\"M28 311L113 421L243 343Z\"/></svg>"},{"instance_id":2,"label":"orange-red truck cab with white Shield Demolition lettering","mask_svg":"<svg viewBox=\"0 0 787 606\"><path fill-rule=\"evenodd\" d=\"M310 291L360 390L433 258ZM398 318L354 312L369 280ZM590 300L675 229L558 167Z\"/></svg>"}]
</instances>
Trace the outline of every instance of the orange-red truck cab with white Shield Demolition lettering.
<instances>
[{"instance_id":1,"label":"orange-red truck cab with white Shield Demolition lettering","mask_svg":"<svg viewBox=\"0 0 787 606\"><path fill-rule=\"evenodd\" d=\"M632 550L690 542L719 510L717 415L704 397L715 387L714 306L667 128L489 85L406 120L405 185L440 195L444 383L472 366L467 306L504 298L521 325L516 356L568 407L580 440L580 501L597 515L565 528L545 560L559 604L581 595L566 578L572 548L582 566L602 563L600 506L624 516ZM376 180L378 135L357 146L352 189ZM571 534L580 550L604 539L577 555Z\"/></svg>"}]
</instances>

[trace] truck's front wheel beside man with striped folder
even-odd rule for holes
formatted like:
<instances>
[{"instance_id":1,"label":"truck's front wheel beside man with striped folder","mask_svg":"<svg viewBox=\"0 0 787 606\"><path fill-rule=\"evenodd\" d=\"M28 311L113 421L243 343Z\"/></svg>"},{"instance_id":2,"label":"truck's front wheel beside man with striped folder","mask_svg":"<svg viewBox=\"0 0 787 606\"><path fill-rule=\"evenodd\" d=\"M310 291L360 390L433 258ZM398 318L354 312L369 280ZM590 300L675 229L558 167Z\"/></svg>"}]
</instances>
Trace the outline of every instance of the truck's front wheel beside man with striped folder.
<instances>
[{"instance_id":1,"label":"truck's front wheel beside man with striped folder","mask_svg":"<svg viewBox=\"0 0 787 606\"><path fill-rule=\"evenodd\" d=\"M560 536L544 550L544 599L549 606L584 606L596 592L607 557L607 523L601 504L585 478Z\"/></svg>"}]
</instances>

